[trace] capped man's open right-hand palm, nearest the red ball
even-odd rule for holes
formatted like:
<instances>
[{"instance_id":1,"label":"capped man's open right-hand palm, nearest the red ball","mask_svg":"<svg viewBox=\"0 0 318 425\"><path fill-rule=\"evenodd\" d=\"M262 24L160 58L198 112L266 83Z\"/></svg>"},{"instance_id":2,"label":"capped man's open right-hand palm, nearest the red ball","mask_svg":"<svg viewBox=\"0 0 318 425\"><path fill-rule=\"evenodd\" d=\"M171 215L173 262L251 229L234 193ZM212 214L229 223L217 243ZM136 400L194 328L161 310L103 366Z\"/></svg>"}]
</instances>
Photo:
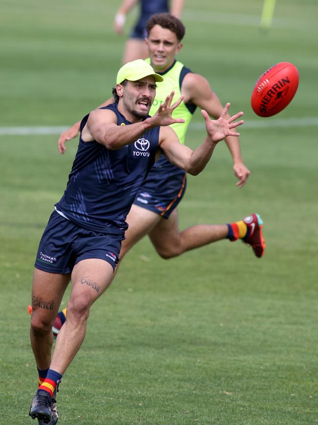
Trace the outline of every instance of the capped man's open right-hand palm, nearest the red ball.
<instances>
[{"instance_id":1,"label":"capped man's open right-hand palm, nearest the red ball","mask_svg":"<svg viewBox=\"0 0 318 425\"><path fill-rule=\"evenodd\" d=\"M235 120L237 120L243 115L243 112L238 112L237 114L227 119L226 116L227 116L229 107L230 107L230 103L227 103L218 120L210 120L208 113L204 111L204 109L201 111L205 120L206 132L209 138L211 139L211 142L213 143L218 143L220 142L220 140L225 139L227 136L240 135L240 133L231 131L231 129L237 127L238 125L242 125L244 123L243 120L240 120L234 123Z\"/></svg>"}]
</instances>

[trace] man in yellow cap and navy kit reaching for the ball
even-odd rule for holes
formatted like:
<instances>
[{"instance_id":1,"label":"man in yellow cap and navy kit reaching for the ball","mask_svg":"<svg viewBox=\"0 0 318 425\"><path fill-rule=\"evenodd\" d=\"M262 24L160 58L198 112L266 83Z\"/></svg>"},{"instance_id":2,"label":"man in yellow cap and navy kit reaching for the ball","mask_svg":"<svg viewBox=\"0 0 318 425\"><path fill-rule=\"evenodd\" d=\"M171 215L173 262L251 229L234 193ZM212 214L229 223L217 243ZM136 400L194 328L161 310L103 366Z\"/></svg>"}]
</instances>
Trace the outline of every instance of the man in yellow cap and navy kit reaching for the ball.
<instances>
[{"instance_id":1,"label":"man in yellow cap and navy kit reaching for the ball","mask_svg":"<svg viewBox=\"0 0 318 425\"><path fill-rule=\"evenodd\" d=\"M117 74L115 102L86 115L67 188L55 204L40 241L32 284L31 346L39 371L39 387L30 416L55 424L56 391L62 375L81 347L91 305L110 285L128 225L126 216L136 192L161 153L177 167L199 174L216 144L243 121L202 111L206 137L194 151L182 145L170 127L182 97L171 92L153 117L150 107L163 78L142 60ZM68 320L57 337L51 360L52 325L69 281Z\"/></svg>"}]
</instances>

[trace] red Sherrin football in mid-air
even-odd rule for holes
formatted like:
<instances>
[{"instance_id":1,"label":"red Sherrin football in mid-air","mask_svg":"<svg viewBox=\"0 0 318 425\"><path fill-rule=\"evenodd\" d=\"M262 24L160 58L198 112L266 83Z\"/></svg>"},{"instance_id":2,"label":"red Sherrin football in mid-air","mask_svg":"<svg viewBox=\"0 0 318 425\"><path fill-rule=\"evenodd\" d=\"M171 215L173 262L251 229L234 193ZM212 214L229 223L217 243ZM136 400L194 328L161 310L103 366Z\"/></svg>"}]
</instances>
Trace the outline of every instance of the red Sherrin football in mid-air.
<instances>
[{"instance_id":1,"label":"red Sherrin football in mid-air","mask_svg":"<svg viewBox=\"0 0 318 425\"><path fill-rule=\"evenodd\" d=\"M295 65L281 62L261 75L253 88L250 104L260 117L282 111L295 96L299 74Z\"/></svg>"}]
</instances>

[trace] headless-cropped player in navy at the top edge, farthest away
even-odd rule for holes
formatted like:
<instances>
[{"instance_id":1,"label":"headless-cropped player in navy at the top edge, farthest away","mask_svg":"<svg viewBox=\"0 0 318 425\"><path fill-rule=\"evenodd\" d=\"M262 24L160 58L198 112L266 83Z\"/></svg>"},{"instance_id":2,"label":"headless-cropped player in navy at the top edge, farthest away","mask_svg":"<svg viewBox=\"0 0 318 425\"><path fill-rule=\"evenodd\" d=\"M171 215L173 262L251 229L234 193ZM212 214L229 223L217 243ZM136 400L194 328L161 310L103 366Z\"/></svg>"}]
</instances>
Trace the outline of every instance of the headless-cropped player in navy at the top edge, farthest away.
<instances>
[{"instance_id":1,"label":"headless-cropped player in navy at the top edge, farthest away","mask_svg":"<svg viewBox=\"0 0 318 425\"><path fill-rule=\"evenodd\" d=\"M136 4L138 4L140 9L138 20L129 35L129 39L126 41L123 63L148 57L145 44L145 38L147 37L146 23L148 19L155 13L169 11L171 15L180 18L184 0L171 0L170 7L168 0L124 0L114 18L114 30L117 34L123 33L126 15Z\"/></svg>"}]
</instances>

